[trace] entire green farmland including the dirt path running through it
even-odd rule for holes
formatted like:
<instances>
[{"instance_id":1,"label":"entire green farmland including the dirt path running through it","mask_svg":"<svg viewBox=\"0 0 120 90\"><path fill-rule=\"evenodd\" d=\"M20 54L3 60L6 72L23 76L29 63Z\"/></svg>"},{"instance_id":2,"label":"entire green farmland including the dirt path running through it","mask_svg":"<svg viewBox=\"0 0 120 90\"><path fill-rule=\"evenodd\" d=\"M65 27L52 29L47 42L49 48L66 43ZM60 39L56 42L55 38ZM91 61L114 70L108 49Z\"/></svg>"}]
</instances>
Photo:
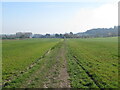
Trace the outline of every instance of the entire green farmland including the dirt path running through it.
<instances>
[{"instance_id":1,"label":"entire green farmland including the dirt path running through it","mask_svg":"<svg viewBox=\"0 0 120 90\"><path fill-rule=\"evenodd\" d=\"M26 39L2 42L6 88L117 88L118 39Z\"/></svg>"}]
</instances>

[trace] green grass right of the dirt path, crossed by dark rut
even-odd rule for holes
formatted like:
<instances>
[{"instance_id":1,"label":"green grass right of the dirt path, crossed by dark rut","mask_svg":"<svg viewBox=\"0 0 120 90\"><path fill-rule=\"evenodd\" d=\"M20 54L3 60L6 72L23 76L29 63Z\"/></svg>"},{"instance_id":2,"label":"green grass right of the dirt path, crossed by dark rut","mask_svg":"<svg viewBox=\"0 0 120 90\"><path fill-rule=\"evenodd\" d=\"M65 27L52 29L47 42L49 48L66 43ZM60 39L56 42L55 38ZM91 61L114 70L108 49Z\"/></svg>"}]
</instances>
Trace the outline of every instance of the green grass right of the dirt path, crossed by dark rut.
<instances>
[{"instance_id":1,"label":"green grass right of the dirt path, crossed by dark rut","mask_svg":"<svg viewBox=\"0 0 120 90\"><path fill-rule=\"evenodd\" d=\"M68 39L67 46L68 68L73 87L93 87L94 84L101 88L118 87L118 39L116 37ZM74 59L77 59L79 65ZM81 73L83 68L80 65L89 74L88 77L93 79L94 83L90 86L86 86L90 80L86 79L86 73ZM74 77L75 74L77 76ZM84 81L84 84L81 81Z\"/></svg>"}]
</instances>

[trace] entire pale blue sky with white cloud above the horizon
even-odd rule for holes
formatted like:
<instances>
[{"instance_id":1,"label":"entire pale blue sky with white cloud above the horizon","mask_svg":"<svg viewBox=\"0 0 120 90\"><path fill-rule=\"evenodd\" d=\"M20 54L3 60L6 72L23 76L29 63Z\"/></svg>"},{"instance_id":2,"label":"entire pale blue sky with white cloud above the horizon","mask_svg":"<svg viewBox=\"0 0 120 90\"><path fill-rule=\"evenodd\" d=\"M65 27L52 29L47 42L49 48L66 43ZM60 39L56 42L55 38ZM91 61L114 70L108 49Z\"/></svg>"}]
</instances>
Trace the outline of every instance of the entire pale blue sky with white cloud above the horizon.
<instances>
[{"instance_id":1,"label":"entire pale blue sky with white cloud above the horizon","mask_svg":"<svg viewBox=\"0 0 120 90\"><path fill-rule=\"evenodd\" d=\"M21 1L0 3L2 33L78 33L118 25L118 0Z\"/></svg>"}]
</instances>

